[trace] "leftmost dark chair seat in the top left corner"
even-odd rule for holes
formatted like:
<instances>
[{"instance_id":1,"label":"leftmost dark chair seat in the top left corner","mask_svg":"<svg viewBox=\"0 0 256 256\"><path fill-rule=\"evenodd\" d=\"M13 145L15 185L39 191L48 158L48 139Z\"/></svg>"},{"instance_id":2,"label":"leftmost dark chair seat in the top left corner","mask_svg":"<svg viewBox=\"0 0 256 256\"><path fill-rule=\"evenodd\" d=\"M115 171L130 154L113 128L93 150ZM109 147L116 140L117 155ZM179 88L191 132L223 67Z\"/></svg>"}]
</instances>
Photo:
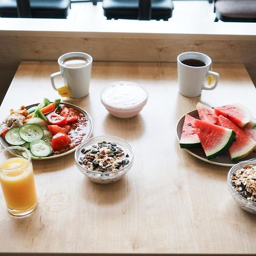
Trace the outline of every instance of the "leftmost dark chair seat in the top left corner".
<instances>
[{"instance_id":1,"label":"leftmost dark chair seat in the top left corner","mask_svg":"<svg viewBox=\"0 0 256 256\"><path fill-rule=\"evenodd\" d=\"M70 0L30 0L31 18L67 18ZM16 0L0 1L0 17L18 17Z\"/></svg>"}]
</instances>

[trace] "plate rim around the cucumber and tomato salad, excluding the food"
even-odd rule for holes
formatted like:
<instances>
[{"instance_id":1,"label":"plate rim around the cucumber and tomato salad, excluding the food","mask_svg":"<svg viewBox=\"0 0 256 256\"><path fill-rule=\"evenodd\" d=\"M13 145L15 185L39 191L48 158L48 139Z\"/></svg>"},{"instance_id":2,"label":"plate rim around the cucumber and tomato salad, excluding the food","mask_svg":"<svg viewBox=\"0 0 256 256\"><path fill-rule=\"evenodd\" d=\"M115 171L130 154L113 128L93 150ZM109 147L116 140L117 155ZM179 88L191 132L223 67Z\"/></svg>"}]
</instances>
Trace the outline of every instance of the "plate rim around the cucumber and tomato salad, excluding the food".
<instances>
[{"instance_id":1,"label":"plate rim around the cucumber and tomato salad, excluding the food","mask_svg":"<svg viewBox=\"0 0 256 256\"><path fill-rule=\"evenodd\" d=\"M39 103L38 103L39 104ZM26 106L26 109L30 109L32 108L33 106L38 106L38 104L33 104L33 105L30 105L30 106ZM85 129L85 136L84 138L82 139L82 142L86 141L86 139L88 139L90 137L90 135L92 134L92 130L93 130L93 122L92 122L92 118L90 118L90 115L85 112L84 110L82 110L81 108L79 108L78 106L75 106L75 105L72 105L72 104L68 104L68 103L65 103L65 102L61 102L60 104L63 104L65 106L67 106L68 108L73 108L73 109L77 109L79 110L82 114L85 115L85 118L86 118L86 123L87 123L87 126L86 126L86 129ZM82 143L81 142L81 143ZM3 147L7 148L7 147L10 147L10 145L2 138L0 137L0 143ZM32 156L32 159L36 159L36 160L45 160L45 159L53 159L53 158L60 158L61 156L64 156L64 155L68 155L74 151L76 151L76 148L78 147L79 145L77 145L75 148L72 148L72 150L68 150L68 151L65 151L61 154L56 154L56 155L49 155L49 156L45 156L43 158L37 158L36 156Z\"/></svg>"}]
</instances>

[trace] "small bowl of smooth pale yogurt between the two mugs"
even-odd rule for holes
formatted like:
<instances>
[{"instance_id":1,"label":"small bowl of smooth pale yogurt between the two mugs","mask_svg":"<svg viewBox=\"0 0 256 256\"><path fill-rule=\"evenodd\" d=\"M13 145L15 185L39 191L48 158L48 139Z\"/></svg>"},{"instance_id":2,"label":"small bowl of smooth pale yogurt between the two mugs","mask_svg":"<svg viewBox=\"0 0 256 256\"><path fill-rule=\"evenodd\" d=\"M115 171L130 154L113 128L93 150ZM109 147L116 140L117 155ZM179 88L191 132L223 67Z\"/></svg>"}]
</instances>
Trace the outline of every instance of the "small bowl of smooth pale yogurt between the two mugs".
<instances>
[{"instance_id":1,"label":"small bowl of smooth pale yogurt between the two mugs","mask_svg":"<svg viewBox=\"0 0 256 256\"><path fill-rule=\"evenodd\" d=\"M101 92L101 102L110 114L119 118L137 115L147 103L148 93L139 84L129 81L113 82Z\"/></svg>"}]
</instances>

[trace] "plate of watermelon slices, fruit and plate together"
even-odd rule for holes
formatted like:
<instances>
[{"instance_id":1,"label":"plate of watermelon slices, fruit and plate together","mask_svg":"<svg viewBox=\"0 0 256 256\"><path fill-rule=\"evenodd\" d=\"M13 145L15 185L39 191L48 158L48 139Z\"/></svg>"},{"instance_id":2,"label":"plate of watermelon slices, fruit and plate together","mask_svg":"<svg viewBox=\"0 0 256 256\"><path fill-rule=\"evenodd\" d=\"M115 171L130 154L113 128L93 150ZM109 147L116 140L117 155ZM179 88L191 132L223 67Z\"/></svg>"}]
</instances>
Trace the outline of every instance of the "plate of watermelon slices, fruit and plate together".
<instances>
[{"instance_id":1,"label":"plate of watermelon slices, fruit and plate together","mask_svg":"<svg viewBox=\"0 0 256 256\"><path fill-rule=\"evenodd\" d=\"M256 158L256 119L241 104L210 108L201 102L177 122L180 147L219 166Z\"/></svg>"}]
</instances>

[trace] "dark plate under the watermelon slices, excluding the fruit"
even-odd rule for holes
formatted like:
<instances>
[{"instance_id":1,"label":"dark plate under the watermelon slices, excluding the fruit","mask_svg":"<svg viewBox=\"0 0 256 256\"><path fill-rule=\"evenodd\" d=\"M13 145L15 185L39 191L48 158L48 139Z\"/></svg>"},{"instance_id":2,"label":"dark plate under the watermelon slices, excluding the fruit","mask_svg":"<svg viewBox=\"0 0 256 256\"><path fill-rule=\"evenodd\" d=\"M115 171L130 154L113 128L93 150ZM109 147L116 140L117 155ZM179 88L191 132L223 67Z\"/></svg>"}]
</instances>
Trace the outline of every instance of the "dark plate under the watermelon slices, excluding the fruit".
<instances>
[{"instance_id":1,"label":"dark plate under the watermelon slices, excluding the fruit","mask_svg":"<svg viewBox=\"0 0 256 256\"><path fill-rule=\"evenodd\" d=\"M193 110L187 114L191 115L191 117L199 119L197 110ZM181 117L179 119L179 121L177 122L177 126L176 126L176 135L177 135L177 139L179 141L180 141L180 137L181 137L181 133L182 133L184 120L185 120L185 115L183 115L183 117ZM211 163L211 164L217 164L218 166L229 166L230 167L230 166L234 166L236 163L238 163L238 162L236 162L236 163L232 162L228 151L225 152L224 154L217 156L216 158L208 160L204 153L203 148L182 148L182 149L187 151L192 156L195 156L196 158L203 160L204 162ZM255 151L253 151L249 155L247 155L246 158L243 158L242 161L249 160L252 158L256 158Z\"/></svg>"}]
</instances>

